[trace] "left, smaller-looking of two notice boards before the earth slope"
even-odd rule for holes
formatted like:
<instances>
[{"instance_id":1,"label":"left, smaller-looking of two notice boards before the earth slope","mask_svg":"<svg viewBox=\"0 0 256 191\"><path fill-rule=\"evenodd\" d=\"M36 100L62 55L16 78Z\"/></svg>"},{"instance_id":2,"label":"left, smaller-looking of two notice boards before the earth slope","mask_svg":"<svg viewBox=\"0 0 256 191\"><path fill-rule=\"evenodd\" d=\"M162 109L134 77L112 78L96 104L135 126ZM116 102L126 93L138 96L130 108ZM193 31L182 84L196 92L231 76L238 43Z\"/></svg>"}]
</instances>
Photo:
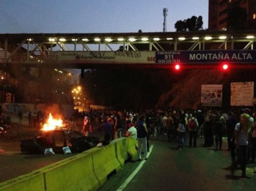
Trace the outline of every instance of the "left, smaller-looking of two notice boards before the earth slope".
<instances>
[{"instance_id":1,"label":"left, smaller-looking of two notice boards before the earth slope","mask_svg":"<svg viewBox=\"0 0 256 191\"><path fill-rule=\"evenodd\" d=\"M201 103L203 106L222 106L222 84L202 84Z\"/></svg>"}]
</instances>

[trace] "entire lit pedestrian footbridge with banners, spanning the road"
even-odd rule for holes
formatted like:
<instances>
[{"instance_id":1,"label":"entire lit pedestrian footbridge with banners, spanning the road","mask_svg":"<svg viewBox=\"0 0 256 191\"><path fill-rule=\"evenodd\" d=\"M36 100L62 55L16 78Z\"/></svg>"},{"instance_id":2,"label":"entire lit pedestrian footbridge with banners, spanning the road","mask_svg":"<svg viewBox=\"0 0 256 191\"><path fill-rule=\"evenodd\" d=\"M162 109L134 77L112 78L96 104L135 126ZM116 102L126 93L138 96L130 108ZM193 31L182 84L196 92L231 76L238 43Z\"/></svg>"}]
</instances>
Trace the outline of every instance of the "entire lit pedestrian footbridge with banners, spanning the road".
<instances>
[{"instance_id":1,"label":"entire lit pedestrian footbridge with banners, spanning the road","mask_svg":"<svg viewBox=\"0 0 256 191\"><path fill-rule=\"evenodd\" d=\"M251 67L255 40L255 31L0 34L0 66L84 70L230 62Z\"/></svg>"}]
</instances>

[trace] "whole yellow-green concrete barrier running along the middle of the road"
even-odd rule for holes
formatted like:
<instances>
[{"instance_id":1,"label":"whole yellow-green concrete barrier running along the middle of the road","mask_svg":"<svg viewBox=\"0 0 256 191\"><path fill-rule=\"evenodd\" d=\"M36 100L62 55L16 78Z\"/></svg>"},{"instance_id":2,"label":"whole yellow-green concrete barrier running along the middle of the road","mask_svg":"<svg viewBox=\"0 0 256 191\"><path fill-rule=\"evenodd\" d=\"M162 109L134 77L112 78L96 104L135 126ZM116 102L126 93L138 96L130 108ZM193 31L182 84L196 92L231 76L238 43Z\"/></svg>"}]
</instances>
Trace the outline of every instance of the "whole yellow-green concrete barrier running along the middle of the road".
<instances>
[{"instance_id":1,"label":"whole yellow-green concrete barrier running along the middle of the road","mask_svg":"<svg viewBox=\"0 0 256 191\"><path fill-rule=\"evenodd\" d=\"M137 160L136 141L119 138L26 175L0 183L0 191L96 191L128 159ZM133 152L131 152L133 151ZM128 153L130 152L130 153Z\"/></svg>"}]
</instances>

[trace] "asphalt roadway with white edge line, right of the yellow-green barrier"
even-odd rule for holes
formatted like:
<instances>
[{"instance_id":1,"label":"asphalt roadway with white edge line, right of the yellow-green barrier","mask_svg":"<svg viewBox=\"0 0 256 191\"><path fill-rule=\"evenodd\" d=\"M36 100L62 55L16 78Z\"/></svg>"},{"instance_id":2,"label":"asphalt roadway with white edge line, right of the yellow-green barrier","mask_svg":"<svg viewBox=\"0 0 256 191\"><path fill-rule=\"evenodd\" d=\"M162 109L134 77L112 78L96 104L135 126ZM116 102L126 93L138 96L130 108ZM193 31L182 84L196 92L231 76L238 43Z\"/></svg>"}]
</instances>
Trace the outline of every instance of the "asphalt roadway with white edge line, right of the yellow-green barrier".
<instances>
[{"instance_id":1,"label":"asphalt roadway with white edge line, right of the yellow-green barrier","mask_svg":"<svg viewBox=\"0 0 256 191\"><path fill-rule=\"evenodd\" d=\"M241 170L237 170L233 177L229 169L231 158L227 142L224 141L222 151L215 151L214 148L203 147L203 141L204 138L198 138L198 147L185 147L178 151L176 141L150 140L153 146L148 160L126 163L122 171L108 178L100 191L256 190L256 173L253 173L256 164L247 165L250 179L242 178ZM129 177L140 166L138 173Z\"/></svg>"}]
</instances>

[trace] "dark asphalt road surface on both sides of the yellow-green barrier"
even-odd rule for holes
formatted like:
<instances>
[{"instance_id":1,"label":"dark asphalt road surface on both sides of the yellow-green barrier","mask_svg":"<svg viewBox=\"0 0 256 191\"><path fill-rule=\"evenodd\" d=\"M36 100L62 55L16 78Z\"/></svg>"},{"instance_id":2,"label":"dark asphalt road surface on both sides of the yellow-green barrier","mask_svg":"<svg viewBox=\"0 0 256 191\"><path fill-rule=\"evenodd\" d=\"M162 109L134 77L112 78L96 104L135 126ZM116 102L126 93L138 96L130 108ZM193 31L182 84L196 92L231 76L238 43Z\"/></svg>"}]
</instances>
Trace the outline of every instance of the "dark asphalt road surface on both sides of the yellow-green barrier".
<instances>
[{"instance_id":1,"label":"dark asphalt road surface on both sides of the yellow-green barrier","mask_svg":"<svg viewBox=\"0 0 256 191\"><path fill-rule=\"evenodd\" d=\"M36 131L20 129L21 135L14 139L0 137L0 149L6 152L0 154L0 182L18 177L50 165L75 154L64 155L27 155L20 152L20 139L33 136ZM94 131L92 135L102 136L102 131ZM247 165L247 175L250 179L241 177L237 170L234 177L228 167L231 164L230 153L226 151L224 141L222 151L203 147L204 138L198 138L198 147L185 147L183 151L176 150L178 143L170 143L150 139L150 154L148 160L142 162L127 162L124 169L108 177L108 181L100 191L255 191L256 164ZM187 140L188 141L188 140ZM187 144L186 144L187 145ZM137 172L137 173L136 173ZM131 176L134 175L134 176Z\"/></svg>"}]
</instances>

